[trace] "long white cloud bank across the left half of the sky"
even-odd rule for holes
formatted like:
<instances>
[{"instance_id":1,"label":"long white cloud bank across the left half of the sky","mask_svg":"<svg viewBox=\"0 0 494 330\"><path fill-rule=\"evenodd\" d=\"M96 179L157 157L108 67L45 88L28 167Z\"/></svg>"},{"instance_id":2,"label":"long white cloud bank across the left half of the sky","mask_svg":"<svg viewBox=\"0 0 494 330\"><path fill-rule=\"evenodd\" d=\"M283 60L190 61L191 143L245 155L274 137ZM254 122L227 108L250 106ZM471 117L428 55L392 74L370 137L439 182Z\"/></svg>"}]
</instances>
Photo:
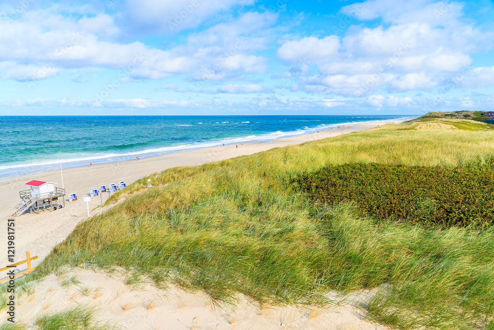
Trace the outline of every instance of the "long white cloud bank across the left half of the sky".
<instances>
[{"instance_id":1,"label":"long white cloud bank across the left half of the sky","mask_svg":"<svg viewBox=\"0 0 494 330\"><path fill-rule=\"evenodd\" d=\"M266 28L276 17L270 13L245 13L238 20L220 23L202 34L221 38L220 32L227 29L229 39L224 45L203 47L191 39L185 45L162 50L139 41L124 44L104 40L120 31L106 14L77 19L37 9L26 12L22 19L0 22L0 44L15 45L0 49L0 61L12 64L0 74L26 81L37 67L49 66L45 77L62 69L113 68L119 69L119 77L127 80L162 79L182 73L203 76L210 72L213 73L208 80L238 79L263 73L266 68L263 57L248 54L249 49L258 49L262 43L240 34Z\"/></svg>"}]
</instances>

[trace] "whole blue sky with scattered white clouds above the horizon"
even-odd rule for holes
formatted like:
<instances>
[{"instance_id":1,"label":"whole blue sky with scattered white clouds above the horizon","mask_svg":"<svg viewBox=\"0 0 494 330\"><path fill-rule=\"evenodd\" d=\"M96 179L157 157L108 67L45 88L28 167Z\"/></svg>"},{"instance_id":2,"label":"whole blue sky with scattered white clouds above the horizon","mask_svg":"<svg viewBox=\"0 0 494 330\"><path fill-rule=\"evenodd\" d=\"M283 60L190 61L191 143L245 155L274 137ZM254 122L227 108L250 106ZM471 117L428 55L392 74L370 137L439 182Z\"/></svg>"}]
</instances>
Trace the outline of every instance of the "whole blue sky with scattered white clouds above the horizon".
<instances>
[{"instance_id":1,"label":"whole blue sky with scattered white clouds above the horizon","mask_svg":"<svg viewBox=\"0 0 494 330\"><path fill-rule=\"evenodd\" d=\"M494 108L494 3L3 0L0 115Z\"/></svg>"}]
</instances>

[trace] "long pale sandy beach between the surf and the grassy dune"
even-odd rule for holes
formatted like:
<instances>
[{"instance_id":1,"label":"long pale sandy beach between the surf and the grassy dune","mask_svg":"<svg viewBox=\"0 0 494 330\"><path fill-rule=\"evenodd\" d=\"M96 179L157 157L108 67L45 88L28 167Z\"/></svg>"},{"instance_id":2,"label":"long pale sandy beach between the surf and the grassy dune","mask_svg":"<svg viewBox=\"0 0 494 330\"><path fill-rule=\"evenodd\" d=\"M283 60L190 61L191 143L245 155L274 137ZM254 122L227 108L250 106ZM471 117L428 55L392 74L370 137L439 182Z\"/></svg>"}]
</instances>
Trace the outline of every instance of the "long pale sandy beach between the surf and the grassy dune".
<instances>
[{"instance_id":1,"label":"long pale sandy beach between the surf and the grassy dune","mask_svg":"<svg viewBox=\"0 0 494 330\"><path fill-rule=\"evenodd\" d=\"M75 227L87 219L86 203L83 197L89 195L89 189L100 185L110 185L119 181L127 184L177 166L195 166L214 161L221 161L242 155L249 155L266 151L276 147L300 144L329 137L348 134L351 132L371 129L388 123L400 123L403 120L387 120L380 122L364 122L345 127L333 128L319 133L301 135L291 138L282 138L268 142L248 142L233 145L225 145L211 148L175 152L156 155L141 160L124 160L111 163L94 164L66 168L63 171L64 188L66 189L65 207L56 211L47 209L40 210L40 214L25 212L15 219L16 226L16 253L15 261L25 259L24 251L29 250L32 256L39 258L33 261L37 266L49 254L50 250L59 242L65 240ZM57 183L56 187L62 187L60 170L53 170L39 174L28 174L0 179L0 214L3 218L9 217L20 205L19 191L24 190L24 183L30 180L41 180ZM68 202L68 195L76 193L78 200ZM104 192L99 196L91 197L89 202L90 216L100 212L98 206L103 204L110 193ZM6 235L6 226L1 229L1 234Z\"/></svg>"}]
</instances>

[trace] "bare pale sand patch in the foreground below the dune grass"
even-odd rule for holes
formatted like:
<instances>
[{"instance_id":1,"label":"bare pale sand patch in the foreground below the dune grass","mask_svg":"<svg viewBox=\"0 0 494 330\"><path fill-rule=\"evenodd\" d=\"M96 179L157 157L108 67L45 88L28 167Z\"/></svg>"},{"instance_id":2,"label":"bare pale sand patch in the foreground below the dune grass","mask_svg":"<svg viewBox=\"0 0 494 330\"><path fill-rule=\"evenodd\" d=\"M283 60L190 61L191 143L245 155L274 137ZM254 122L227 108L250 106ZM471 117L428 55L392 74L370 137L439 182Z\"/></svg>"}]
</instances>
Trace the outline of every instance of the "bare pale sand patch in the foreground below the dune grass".
<instances>
[{"instance_id":1,"label":"bare pale sand patch in the foreground below the dune grass","mask_svg":"<svg viewBox=\"0 0 494 330\"><path fill-rule=\"evenodd\" d=\"M33 326L41 315L85 306L95 307L95 321L132 330L387 329L363 320L364 310L348 296L332 296L332 304L323 308L260 305L243 295L226 304L172 284L165 289L146 282L132 287L124 283L127 276L81 268L49 275L18 300L19 321Z\"/></svg>"}]
</instances>

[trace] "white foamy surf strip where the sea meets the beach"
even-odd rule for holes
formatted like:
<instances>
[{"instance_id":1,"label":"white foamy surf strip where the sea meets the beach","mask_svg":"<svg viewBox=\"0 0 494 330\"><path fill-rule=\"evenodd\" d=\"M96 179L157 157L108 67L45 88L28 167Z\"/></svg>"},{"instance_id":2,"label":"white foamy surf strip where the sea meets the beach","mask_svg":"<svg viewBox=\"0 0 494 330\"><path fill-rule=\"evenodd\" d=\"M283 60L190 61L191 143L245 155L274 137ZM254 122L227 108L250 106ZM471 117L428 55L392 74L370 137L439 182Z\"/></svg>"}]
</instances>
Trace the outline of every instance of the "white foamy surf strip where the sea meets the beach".
<instances>
[{"instance_id":1,"label":"white foamy surf strip where the sea meets the beach","mask_svg":"<svg viewBox=\"0 0 494 330\"><path fill-rule=\"evenodd\" d=\"M45 160L37 160L32 162L20 162L20 163L14 162L11 163L12 165L0 165L0 180L7 178L15 178L19 176L26 176L30 174L41 175L43 173L59 170L59 165L61 165L62 169L69 169L74 167L83 167L89 163L94 163L94 165L104 164L104 163L115 163L126 160L135 160L136 156L139 156L139 158L144 159L157 155L165 155L170 153L214 148L223 145L227 146L232 144L239 144L242 142L244 144L253 143L253 142L270 142L279 139L296 138L305 135L311 135L318 131L322 132L336 128L338 126L352 126L363 123L372 123L372 122L377 123L377 122L385 122L390 120L401 121L407 119L409 119L409 117L400 117L400 118L384 119L384 120L372 120L372 121L364 121L364 122L346 122L346 123L338 123L338 124L328 124L322 127L307 128L305 131L302 129L297 129L295 131L288 131L288 132L278 131L278 132L261 134L259 136L244 136L244 137L228 138L227 140L201 142L196 145L188 144L188 145L163 146L163 147L156 147L156 148L144 149L139 151L129 151L121 154L107 153L107 154L98 154L93 157L91 157L90 155L81 155L79 158L61 159L61 161L57 161L56 159L45 159ZM12 173L12 175L7 175L8 173Z\"/></svg>"}]
</instances>

